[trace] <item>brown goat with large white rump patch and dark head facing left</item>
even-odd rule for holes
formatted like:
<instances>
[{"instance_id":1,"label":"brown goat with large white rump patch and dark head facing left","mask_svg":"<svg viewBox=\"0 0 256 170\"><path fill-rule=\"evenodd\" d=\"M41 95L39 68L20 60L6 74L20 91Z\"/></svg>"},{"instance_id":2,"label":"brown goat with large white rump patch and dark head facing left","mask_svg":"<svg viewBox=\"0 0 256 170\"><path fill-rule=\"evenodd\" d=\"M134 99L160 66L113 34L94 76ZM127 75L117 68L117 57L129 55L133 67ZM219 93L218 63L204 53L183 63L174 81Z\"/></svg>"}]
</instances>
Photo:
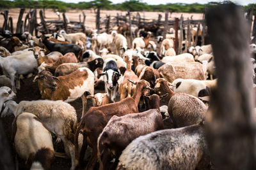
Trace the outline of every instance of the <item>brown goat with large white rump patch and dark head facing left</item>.
<instances>
[{"instance_id":1,"label":"brown goat with large white rump patch and dark head facing left","mask_svg":"<svg viewBox=\"0 0 256 170\"><path fill-rule=\"evenodd\" d=\"M87 104L84 93L93 94L94 92L94 74L86 67L81 67L73 73L59 77L52 76L49 71L41 71L33 81L36 80L40 94L44 99L62 100L69 103L81 97L83 111Z\"/></svg>"}]
</instances>

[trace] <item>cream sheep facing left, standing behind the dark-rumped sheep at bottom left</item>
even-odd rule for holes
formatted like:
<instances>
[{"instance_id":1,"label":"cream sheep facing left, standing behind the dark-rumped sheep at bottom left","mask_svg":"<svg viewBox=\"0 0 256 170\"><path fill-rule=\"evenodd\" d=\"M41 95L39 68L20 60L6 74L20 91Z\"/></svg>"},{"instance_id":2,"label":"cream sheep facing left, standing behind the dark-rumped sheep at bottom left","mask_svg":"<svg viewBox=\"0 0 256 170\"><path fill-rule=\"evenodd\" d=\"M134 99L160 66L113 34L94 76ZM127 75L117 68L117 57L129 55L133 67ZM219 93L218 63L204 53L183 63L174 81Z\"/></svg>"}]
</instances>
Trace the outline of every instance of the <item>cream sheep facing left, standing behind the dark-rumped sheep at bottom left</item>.
<instances>
[{"instance_id":1,"label":"cream sheep facing left, standing behind the dark-rumped sheep at bottom left","mask_svg":"<svg viewBox=\"0 0 256 170\"><path fill-rule=\"evenodd\" d=\"M63 141L65 152L70 155L72 167L75 169L75 148L72 140L76 132L77 115L76 110L63 101L8 101L2 112L2 117L13 115L17 117L22 112L29 112L36 115L49 131L56 134Z\"/></svg>"}]
</instances>

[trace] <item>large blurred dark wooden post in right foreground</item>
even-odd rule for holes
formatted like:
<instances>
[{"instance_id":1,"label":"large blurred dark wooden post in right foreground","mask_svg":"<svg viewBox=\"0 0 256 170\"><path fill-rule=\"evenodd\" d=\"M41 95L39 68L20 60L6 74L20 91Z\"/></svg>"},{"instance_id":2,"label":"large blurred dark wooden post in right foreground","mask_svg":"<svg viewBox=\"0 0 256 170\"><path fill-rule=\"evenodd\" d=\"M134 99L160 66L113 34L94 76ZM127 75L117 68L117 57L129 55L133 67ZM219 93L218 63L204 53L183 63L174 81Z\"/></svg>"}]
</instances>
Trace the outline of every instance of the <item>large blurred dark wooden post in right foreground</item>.
<instances>
[{"instance_id":1,"label":"large blurred dark wooden post in right foreground","mask_svg":"<svg viewBox=\"0 0 256 170\"><path fill-rule=\"evenodd\" d=\"M256 169L248 25L241 8L231 3L209 10L205 18L218 77L205 120L211 160L216 169Z\"/></svg>"}]
</instances>

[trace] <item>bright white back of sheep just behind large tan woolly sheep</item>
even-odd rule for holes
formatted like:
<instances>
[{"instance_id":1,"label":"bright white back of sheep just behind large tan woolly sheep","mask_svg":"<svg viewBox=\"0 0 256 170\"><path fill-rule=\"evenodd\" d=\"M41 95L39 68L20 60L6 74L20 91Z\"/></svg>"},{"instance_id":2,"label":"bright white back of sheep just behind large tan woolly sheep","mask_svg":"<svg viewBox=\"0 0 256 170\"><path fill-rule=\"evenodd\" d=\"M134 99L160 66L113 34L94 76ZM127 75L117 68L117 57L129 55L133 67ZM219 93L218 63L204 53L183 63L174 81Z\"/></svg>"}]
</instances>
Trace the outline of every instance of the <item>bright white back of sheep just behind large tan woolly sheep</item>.
<instances>
[{"instance_id":1,"label":"bright white back of sheep just behind large tan woolly sheep","mask_svg":"<svg viewBox=\"0 0 256 170\"><path fill-rule=\"evenodd\" d=\"M191 53L182 53L175 56L166 56L161 60L162 62L195 62L193 55Z\"/></svg>"}]
</instances>

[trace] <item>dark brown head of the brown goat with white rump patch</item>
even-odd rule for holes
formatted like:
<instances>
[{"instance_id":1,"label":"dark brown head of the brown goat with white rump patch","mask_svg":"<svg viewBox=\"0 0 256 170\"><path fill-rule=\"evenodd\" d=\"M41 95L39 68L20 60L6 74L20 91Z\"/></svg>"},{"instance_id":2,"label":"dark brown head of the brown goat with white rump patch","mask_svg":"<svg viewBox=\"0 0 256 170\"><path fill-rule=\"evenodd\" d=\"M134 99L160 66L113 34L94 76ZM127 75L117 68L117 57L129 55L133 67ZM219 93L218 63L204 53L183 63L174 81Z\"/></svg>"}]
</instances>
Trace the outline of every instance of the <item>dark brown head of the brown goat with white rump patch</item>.
<instances>
[{"instance_id":1,"label":"dark brown head of the brown goat with white rump patch","mask_svg":"<svg viewBox=\"0 0 256 170\"><path fill-rule=\"evenodd\" d=\"M37 74L37 76L35 76L35 79L33 81L36 81L36 80L45 89L56 90L57 83L55 80L59 80L59 79L55 76L52 76L52 73L49 71L41 71L40 73Z\"/></svg>"}]
</instances>

